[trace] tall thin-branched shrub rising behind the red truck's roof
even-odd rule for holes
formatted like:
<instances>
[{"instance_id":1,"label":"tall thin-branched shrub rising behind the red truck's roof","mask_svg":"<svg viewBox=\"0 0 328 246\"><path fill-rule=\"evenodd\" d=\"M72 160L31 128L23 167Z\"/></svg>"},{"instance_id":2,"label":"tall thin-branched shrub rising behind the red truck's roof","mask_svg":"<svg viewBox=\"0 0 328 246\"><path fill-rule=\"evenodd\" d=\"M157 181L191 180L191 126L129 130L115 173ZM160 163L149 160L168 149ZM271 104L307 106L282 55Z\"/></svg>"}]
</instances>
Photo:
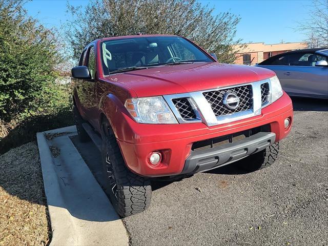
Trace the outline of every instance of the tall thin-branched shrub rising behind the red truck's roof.
<instances>
[{"instance_id":1,"label":"tall thin-branched shrub rising behind the red truck's roof","mask_svg":"<svg viewBox=\"0 0 328 246\"><path fill-rule=\"evenodd\" d=\"M223 63L233 63L239 16L214 14L213 8L196 0L94 0L86 8L68 5L67 23L74 57L92 40L101 37L143 34L185 36Z\"/></svg>"}]
</instances>

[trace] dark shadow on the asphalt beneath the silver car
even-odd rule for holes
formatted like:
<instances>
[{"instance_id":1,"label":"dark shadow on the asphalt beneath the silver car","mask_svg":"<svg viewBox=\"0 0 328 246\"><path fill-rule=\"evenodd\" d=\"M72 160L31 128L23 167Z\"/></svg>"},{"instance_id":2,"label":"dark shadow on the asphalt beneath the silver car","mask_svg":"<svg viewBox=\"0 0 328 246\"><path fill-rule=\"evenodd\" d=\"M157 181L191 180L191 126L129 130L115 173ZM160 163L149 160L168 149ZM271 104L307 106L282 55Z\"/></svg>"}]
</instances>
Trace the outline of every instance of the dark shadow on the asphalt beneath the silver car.
<instances>
[{"instance_id":1,"label":"dark shadow on the asphalt beneath the silver car","mask_svg":"<svg viewBox=\"0 0 328 246\"><path fill-rule=\"evenodd\" d=\"M291 97L294 111L328 111L327 99Z\"/></svg>"}]
</instances>

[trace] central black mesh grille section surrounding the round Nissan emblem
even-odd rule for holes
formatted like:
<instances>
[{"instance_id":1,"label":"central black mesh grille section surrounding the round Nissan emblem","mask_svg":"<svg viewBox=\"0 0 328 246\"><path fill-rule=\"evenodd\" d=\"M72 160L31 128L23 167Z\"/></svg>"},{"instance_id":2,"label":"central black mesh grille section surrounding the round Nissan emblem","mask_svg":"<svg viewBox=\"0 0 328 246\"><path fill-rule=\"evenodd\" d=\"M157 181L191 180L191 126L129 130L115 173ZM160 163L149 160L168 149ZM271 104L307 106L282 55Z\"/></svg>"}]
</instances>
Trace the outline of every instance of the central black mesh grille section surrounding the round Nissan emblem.
<instances>
[{"instance_id":1,"label":"central black mesh grille section surrounding the round Nissan emblem","mask_svg":"<svg viewBox=\"0 0 328 246\"><path fill-rule=\"evenodd\" d=\"M233 93L239 98L239 105L236 109L230 109L223 104L223 97L228 93ZM203 95L211 105L215 116L229 115L245 110L250 110L253 106L251 85L203 92Z\"/></svg>"}]
</instances>

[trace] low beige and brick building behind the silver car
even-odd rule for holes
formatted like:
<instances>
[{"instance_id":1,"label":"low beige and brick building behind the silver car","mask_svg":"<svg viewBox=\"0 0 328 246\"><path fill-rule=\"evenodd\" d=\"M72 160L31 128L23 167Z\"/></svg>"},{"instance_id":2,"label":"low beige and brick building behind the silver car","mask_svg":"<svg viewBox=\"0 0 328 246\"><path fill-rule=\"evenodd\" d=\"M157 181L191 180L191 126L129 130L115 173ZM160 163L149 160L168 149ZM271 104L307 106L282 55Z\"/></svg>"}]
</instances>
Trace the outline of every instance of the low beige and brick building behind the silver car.
<instances>
[{"instance_id":1,"label":"low beige and brick building behind the silver car","mask_svg":"<svg viewBox=\"0 0 328 246\"><path fill-rule=\"evenodd\" d=\"M241 49L241 51L236 54L235 64L255 65L274 55L292 50L308 48L308 44L301 42L272 45L265 45L264 43L250 43L245 45L247 45L245 48L241 48L240 45L235 46L236 49Z\"/></svg>"}]
</instances>

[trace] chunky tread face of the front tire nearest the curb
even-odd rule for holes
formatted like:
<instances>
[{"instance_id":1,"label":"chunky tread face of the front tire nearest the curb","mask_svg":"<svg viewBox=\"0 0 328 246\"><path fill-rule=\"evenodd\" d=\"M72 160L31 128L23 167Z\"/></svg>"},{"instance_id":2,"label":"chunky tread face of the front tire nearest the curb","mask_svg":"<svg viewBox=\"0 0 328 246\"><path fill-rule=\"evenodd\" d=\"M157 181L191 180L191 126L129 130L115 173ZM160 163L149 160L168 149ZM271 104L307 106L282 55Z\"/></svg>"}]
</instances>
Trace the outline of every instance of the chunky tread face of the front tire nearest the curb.
<instances>
[{"instance_id":1,"label":"chunky tread face of the front tire nearest the curb","mask_svg":"<svg viewBox=\"0 0 328 246\"><path fill-rule=\"evenodd\" d=\"M105 136L104 141L117 183L116 212L121 217L127 217L145 211L151 201L150 180L132 173L126 167L114 135Z\"/></svg>"}]
</instances>

